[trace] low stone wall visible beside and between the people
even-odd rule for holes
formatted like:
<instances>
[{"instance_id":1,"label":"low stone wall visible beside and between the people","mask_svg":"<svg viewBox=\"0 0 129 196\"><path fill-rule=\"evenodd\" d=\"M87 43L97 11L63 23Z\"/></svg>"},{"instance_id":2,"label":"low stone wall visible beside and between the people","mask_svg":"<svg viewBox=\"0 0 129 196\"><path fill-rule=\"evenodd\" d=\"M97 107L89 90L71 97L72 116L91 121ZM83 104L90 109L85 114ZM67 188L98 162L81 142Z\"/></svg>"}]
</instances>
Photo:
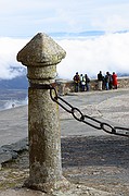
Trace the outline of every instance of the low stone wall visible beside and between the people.
<instances>
[{"instance_id":1,"label":"low stone wall visible beside and between the people","mask_svg":"<svg viewBox=\"0 0 129 196\"><path fill-rule=\"evenodd\" d=\"M56 87L60 95L75 90L73 81L56 79ZM129 77L118 77L118 88L129 88ZM90 90L98 90L98 79L90 81Z\"/></svg>"}]
</instances>

